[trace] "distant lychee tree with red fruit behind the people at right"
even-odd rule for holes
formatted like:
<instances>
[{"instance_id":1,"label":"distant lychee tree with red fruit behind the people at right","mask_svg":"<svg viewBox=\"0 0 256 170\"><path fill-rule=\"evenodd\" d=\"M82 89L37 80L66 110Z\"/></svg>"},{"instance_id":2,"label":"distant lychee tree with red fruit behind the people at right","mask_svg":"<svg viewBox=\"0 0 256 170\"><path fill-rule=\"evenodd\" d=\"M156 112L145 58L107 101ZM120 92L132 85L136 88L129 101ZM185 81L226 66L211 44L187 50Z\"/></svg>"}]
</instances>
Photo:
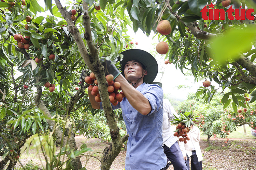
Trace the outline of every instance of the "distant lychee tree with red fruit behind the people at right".
<instances>
[{"instance_id":1,"label":"distant lychee tree with red fruit behind the people at right","mask_svg":"<svg viewBox=\"0 0 256 170\"><path fill-rule=\"evenodd\" d=\"M223 109L222 98L222 95L216 95L209 104L205 103L203 99L196 98L195 94L189 94L188 99L181 102L176 110L178 114L192 112L201 118L198 127L203 132L203 135L207 135L208 145L210 145L210 137L218 135L221 138L228 138L231 132L236 131L237 126L247 124L255 128L255 110L244 112L245 109L244 111L241 109L241 114L235 113L231 104L226 109ZM250 106L250 108L255 109L255 105Z\"/></svg>"}]
</instances>

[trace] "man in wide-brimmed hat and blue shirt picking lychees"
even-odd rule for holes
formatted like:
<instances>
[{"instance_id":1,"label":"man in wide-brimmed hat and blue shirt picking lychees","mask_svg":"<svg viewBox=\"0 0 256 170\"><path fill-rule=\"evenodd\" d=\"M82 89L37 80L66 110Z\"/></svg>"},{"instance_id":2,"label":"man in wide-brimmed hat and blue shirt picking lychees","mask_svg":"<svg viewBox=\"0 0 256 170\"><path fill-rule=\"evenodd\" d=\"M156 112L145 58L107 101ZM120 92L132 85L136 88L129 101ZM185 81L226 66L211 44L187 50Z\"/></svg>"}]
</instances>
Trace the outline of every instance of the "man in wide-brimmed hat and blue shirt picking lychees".
<instances>
[{"instance_id":1,"label":"man in wide-brimmed hat and blue shirt picking lychees","mask_svg":"<svg viewBox=\"0 0 256 170\"><path fill-rule=\"evenodd\" d=\"M113 109L121 108L129 134L126 152L126 170L165 170L167 157L162 148L163 91L160 86L150 84L158 72L155 58L139 49L123 51L120 61L122 74L105 61L103 66L114 81L121 84L125 97ZM83 73L81 77L85 77ZM91 105L102 109L88 90Z\"/></svg>"}]
</instances>

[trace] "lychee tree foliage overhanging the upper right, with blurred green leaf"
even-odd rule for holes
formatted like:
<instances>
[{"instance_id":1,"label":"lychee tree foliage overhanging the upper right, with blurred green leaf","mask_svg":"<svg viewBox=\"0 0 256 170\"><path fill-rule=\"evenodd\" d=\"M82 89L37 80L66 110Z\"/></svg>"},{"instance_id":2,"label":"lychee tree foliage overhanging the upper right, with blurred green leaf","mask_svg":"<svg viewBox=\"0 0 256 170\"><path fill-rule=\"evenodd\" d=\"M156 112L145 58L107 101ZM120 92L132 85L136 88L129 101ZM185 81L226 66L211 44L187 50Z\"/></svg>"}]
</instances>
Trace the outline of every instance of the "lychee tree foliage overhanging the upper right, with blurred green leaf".
<instances>
[{"instance_id":1,"label":"lychee tree foliage overhanging the upper right, with blurred green leaf","mask_svg":"<svg viewBox=\"0 0 256 170\"><path fill-rule=\"evenodd\" d=\"M248 103L256 100L255 13L251 13L251 20L239 18L237 14L234 20L227 16L224 20L203 20L200 11L211 3L215 9L224 11L231 5L233 9L256 7L254 2L240 0L233 0L226 7L222 1L206 0L127 1L126 6L134 32L140 28L147 35L152 30L158 34L159 42L169 44L166 59L176 68L182 73L184 69L191 70L195 80L204 78L219 85L202 86L197 96L202 95L210 102L216 93L224 93L222 104L229 101L237 112L237 107L247 107L244 97L250 98ZM157 31L162 20L170 22L172 29L168 35Z\"/></svg>"}]
</instances>

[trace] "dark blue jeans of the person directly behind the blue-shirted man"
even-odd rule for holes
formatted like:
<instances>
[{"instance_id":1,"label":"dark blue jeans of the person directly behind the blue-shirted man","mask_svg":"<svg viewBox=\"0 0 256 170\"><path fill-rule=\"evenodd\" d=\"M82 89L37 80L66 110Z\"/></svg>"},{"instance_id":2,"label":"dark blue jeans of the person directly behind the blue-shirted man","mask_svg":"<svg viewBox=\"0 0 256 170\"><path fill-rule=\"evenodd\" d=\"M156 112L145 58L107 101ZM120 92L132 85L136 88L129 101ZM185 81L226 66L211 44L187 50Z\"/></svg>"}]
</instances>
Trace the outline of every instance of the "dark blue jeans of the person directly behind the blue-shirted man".
<instances>
[{"instance_id":1,"label":"dark blue jeans of the person directly behind the blue-shirted man","mask_svg":"<svg viewBox=\"0 0 256 170\"><path fill-rule=\"evenodd\" d=\"M175 142L170 148L164 145L163 152L171 161L174 170L188 170L178 142Z\"/></svg>"}]
</instances>

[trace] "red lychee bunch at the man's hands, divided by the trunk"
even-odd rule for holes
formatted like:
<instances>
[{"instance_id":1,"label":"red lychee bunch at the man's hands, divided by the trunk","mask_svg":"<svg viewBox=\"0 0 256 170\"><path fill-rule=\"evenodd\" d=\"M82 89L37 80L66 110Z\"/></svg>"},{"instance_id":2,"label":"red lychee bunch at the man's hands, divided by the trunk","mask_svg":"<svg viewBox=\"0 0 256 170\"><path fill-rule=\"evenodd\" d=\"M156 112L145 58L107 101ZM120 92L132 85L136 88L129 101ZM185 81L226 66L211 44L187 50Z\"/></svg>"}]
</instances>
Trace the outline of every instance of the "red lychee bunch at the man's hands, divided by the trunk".
<instances>
[{"instance_id":1,"label":"red lychee bunch at the man's hands, divided by the trunk","mask_svg":"<svg viewBox=\"0 0 256 170\"><path fill-rule=\"evenodd\" d=\"M121 87L121 84L119 82L113 81L114 76L112 74L106 75L106 81L108 82L108 92L109 92L109 100L110 102L116 106L118 102L121 102L125 95L121 91L120 93L118 90ZM84 81L87 84L90 84L88 87L88 90L91 91L91 95L95 96L96 102L101 102L100 94L99 94L99 87L97 79L93 72L90 73L90 76L86 76Z\"/></svg>"}]
</instances>

